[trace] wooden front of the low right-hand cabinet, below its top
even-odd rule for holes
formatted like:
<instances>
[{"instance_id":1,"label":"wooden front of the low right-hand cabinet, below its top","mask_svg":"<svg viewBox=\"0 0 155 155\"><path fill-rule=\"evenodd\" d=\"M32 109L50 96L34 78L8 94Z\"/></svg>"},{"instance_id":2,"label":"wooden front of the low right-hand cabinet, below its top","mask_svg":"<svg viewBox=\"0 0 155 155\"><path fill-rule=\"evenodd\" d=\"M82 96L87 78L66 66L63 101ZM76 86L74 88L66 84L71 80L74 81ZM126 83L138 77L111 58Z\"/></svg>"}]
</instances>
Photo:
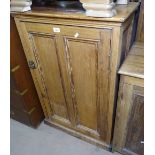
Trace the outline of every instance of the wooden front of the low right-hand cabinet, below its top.
<instances>
[{"instance_id":1,"label":"wooden front of the low right-hand cabinet, below its top","mask_svg":"<svg viewBox=\"0 0 155 155\"><path fill-rule=\"evenodd\" d=\"M113 147L127 155L144 154L143 87L121 83Z\"/></svg>"}]
</instances>

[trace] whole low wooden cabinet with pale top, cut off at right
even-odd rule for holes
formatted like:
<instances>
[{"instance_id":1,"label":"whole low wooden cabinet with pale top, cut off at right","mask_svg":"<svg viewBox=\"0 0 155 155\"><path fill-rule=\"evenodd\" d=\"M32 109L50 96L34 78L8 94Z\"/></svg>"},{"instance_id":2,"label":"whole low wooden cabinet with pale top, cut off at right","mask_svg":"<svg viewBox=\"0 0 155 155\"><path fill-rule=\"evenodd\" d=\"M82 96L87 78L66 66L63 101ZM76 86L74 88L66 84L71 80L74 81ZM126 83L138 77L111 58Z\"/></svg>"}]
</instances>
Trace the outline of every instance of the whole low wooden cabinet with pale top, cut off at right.
<instances>
[{"instance_id":1,"label":"whole low wooden cabinet with pale top, cut off at right","mask_svg":"<svg viewBox=\"0 0 155 155\"><path fill-rule=\"evenodd\" d=\"M144 45L136 43L122 67L113 150L144 154Z\"/></svg>"}]
</instances>

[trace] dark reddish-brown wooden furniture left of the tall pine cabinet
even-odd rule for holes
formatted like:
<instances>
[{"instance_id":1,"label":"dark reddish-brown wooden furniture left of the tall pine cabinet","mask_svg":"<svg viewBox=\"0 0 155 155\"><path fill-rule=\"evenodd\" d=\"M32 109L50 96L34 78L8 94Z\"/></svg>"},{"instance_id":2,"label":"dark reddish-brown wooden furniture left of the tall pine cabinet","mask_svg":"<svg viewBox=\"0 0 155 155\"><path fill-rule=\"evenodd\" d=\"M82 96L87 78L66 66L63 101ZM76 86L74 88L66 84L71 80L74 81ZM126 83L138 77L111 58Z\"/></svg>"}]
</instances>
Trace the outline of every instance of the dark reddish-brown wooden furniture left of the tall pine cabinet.
<instances>
[{"instance_id":1,"label":"dark reddish-brown wooden furniture left of the tall pine cabinet","mask_svg":"<svg viewBox=\"0 0 155 155\"><path fill-rule=\"evenodd\" d=\"M44 115L13 18L10 20L10 34L11 118L37 127Z\"/></svg>"}]
</instances>

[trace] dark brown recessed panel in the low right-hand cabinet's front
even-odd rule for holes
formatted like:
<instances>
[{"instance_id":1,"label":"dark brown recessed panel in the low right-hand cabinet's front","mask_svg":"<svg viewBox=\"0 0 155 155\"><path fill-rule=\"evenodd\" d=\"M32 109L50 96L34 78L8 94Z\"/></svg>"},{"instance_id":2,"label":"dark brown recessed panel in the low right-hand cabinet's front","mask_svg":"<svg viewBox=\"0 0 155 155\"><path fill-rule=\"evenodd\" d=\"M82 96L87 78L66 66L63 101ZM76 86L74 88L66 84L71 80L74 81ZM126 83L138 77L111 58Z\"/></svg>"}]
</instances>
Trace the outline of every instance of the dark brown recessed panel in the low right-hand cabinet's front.
<instances>
[{"instance_id":1,"label":"dark brown recessed panel in the low right-hand cabinet's front","mask_svg":"<svg viewBox=\"0 0 155 155\"><path fill-rule=\"evenodd\" d=\"M143 88L135 87L133 105L128 120L125 148L139 155L144 154L144 94Z\"/></svg>"}]
</instances>

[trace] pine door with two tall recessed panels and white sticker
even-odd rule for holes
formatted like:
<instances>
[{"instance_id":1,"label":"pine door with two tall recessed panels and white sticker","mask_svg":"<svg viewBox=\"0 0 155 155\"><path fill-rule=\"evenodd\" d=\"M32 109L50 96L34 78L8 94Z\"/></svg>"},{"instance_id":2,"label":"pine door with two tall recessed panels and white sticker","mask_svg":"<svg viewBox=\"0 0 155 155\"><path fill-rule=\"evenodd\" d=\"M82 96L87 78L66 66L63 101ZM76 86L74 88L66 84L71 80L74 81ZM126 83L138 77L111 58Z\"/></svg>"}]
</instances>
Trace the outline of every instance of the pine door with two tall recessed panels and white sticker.
<instances>
[{"instance_id":1,"label":"pine door with two tall recessed panels and white sticker","mask_svg":"<svg viewBox=\"0 0 155 155\"><path fill-rule=\"evenodd\" d=\"M24 27L48 118L109 143L111 30L27 22Z\"/></svg>"}]
</instances>

